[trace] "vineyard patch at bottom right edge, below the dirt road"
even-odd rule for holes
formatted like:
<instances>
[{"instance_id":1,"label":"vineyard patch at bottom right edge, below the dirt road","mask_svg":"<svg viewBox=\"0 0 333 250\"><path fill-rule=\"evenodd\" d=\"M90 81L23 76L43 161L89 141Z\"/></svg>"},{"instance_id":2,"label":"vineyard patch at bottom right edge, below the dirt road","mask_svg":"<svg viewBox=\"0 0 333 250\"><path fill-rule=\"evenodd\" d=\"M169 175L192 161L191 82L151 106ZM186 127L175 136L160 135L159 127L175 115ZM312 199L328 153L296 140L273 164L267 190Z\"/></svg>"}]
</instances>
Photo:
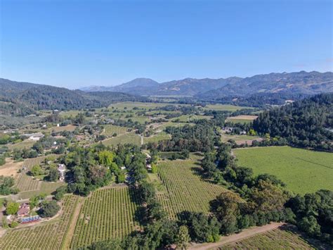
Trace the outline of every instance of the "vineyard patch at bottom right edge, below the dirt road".
<instances>
[{"instance_id":1,"label":"vineyard patch at bottom right edge, below the dirt road","mask_svg":"<svg viewBox=\"0 0 333 250\"><path fill-rule=\"evenodd\" d=\"M319 249L296 232L275 229L218 249Z\"/></svg>"}]
</instances>

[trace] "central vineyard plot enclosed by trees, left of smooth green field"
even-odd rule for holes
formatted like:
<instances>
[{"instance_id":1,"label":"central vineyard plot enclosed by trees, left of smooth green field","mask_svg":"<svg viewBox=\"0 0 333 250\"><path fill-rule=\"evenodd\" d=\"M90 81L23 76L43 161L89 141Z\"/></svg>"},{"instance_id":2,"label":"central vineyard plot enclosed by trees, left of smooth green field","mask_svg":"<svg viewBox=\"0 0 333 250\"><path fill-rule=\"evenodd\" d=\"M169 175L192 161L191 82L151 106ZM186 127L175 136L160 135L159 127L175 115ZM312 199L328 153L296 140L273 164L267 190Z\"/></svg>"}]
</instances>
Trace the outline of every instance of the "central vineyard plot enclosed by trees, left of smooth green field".
<instances>
[{"instance_id":1,"label":"central vineyard plot enclosed by trees, left of smooth green field","mask_svg":"<svg viewBox=\"0 0 333 250\"><path fill-rule=\"evenodd\" d=\"M207 213L209 201L226 192L195 173L200 168L196 161L162 161L157 168L164 186L164 191L157 192L157 198L171 218L185 210Z\"/></svg>"}]
</instances>

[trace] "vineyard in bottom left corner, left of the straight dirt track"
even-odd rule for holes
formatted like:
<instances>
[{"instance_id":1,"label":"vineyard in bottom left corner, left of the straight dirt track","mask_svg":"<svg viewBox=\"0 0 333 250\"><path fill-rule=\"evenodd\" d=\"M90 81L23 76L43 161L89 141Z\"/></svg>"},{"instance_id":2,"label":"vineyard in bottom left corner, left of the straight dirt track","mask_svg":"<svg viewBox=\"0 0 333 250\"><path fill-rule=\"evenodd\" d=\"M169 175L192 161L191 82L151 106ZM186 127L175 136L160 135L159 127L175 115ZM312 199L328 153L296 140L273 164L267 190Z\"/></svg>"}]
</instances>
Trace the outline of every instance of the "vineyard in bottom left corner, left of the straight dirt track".
<instances>
[{"instance_id":1,"label":"vineyard in bottom left corner, left of the straight dirt track","mask_svg":"<svg viewBox=\"0 0 333 250\"><path fill-rule=\"evenodd\" d=\"M8 230L0 238L0 249L61 249L78 200L77 196L65 196L60 218L44 225Z\"/></svg>"}]
</instances>

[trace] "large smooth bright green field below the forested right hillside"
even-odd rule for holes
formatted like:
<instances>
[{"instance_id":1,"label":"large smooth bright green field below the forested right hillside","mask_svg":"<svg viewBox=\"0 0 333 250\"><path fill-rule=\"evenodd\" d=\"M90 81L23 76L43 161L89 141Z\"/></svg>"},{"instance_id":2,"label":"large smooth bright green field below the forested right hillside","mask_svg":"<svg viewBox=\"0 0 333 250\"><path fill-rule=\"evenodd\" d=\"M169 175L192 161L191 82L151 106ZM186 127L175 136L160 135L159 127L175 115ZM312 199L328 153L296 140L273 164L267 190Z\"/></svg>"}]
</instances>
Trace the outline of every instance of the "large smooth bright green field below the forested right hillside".
<instances>
[{"instance_id":1,"label":"large smooth bright green field below the forested right hillside","mask_svg":"<svg viewBox=\"0 0 333 250\"><path fill-rule=\"evenodd\" d=\"M270 146L233 151L239 165L252 168L255 175L276 175L294 193L305 194L319 189L333 190L333 154Z\"/></svg>"}]
</instances>

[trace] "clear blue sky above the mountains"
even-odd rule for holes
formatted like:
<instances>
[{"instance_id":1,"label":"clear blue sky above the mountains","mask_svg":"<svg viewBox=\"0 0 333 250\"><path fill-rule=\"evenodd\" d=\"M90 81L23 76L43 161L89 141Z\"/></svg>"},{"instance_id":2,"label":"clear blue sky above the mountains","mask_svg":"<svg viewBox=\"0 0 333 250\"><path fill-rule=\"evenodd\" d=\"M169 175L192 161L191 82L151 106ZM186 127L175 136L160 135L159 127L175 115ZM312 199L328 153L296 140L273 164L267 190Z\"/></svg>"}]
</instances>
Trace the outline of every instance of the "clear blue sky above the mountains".
<instances>
[{"instance_id":1,"label":"clear blue sky above the mountains","mask_svg":"<svg viewBox=\"0 0 333 250\"><path fill-rule=\"evenodd\" d=\"M0 77L76 89L333 71L332 5L0 0Z\"/></svg>"}]
</instances>

